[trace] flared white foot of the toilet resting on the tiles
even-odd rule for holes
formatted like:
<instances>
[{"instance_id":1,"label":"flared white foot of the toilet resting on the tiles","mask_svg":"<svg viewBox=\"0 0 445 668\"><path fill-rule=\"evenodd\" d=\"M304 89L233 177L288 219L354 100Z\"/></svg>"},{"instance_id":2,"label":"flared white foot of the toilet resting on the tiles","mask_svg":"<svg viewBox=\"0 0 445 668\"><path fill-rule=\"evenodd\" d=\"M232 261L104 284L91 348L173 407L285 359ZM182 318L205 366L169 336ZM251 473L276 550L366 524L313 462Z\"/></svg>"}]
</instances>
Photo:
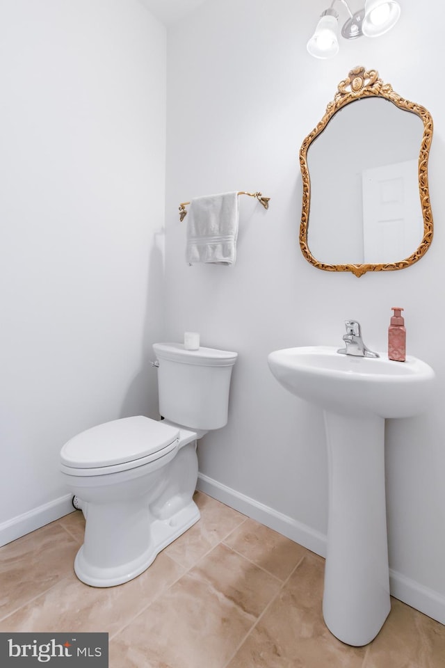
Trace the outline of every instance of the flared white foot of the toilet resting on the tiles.
<instances>
[{"instance_id":1,"label":"flared white foot of the toilet resting on the tiles","mask_svg":"<svg viewBox=\"0 0 445 668\"><path fill-rule=\"evenodd\" d=\"M137 559L111 568L97 568L85 557L84 546L74 559L74 572L79 580L91 587L115 587L133 580L154 562L159 552L184 534L200 519L200 511L194 501L181 508L165 520L156 519L150 525L151 541L149 547Z\"/></svg>"}]
</instances>

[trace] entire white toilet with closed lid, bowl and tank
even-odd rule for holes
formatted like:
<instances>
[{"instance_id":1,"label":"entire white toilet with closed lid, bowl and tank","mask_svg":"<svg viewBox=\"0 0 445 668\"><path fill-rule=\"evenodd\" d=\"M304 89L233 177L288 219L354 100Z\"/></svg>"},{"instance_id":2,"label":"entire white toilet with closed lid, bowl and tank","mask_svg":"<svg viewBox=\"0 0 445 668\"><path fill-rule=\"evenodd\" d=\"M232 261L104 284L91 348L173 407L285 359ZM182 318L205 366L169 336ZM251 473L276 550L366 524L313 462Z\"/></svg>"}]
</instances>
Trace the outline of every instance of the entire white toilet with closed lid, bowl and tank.
<instances>
[{"instance_id":1,"label":"entire white toilet with closed lid, bowl and tank","mask_svg":"<svg viewBox=\"0 0 445 668\"><path fill-rule=\"evenodd\" d=\"M74 571L92 587L136 578L199 520L196 442L227 424L237 353L177 343L153 349L161 420L99 424L60 451L65 484L86 518Z\"/></svg>"}]
</instances>

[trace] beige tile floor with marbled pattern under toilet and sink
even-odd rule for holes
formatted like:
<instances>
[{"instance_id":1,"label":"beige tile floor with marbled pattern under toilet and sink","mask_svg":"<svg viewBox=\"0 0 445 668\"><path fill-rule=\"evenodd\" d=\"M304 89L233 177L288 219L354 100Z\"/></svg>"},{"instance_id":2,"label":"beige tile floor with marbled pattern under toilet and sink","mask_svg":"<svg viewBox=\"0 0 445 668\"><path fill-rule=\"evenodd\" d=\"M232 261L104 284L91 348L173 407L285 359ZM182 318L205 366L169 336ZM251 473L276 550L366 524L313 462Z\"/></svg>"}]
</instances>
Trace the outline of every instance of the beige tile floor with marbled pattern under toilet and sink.
<instances>
[{"instance_id":1,"label":"beige tile floor with marbled pattern under toilet and sink","mask_svg":"<svg viewBox=\"0 0 445 668\"><path fill-rule=\"evenodd\" d=\"M445 626L394 598L373 642L339 642L321 615L321 557L195 500L200 522L120 587L74 575L79 511L0 548L0 631L105 631L111 668L445 667Z\"/></svg>"}]
</instances>

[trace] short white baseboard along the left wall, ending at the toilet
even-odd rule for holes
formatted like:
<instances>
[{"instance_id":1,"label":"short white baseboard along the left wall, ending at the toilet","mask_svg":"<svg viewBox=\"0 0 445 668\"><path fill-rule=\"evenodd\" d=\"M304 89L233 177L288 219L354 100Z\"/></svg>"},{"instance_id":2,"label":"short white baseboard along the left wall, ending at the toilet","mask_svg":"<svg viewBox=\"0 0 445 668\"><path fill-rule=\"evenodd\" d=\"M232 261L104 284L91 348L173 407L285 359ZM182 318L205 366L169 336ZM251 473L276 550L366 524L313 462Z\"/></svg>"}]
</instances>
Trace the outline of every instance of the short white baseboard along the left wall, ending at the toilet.
<instances>
[{"instance_id":1,"label":"short white baseboard along the left wall, ending at the toilet","mask_svg":"<svg viewBox=\"0 0 445 668\"><path fill-rule=\"evenodd\" d=\"M60 496L54 501L3 522L0 524L0 546L15 541L15 539L29 534L31 531L40 529L45 524L54 522L54 520L71 513L74 510L71 500L72 494Z\"/></svg>"}]
</instances>

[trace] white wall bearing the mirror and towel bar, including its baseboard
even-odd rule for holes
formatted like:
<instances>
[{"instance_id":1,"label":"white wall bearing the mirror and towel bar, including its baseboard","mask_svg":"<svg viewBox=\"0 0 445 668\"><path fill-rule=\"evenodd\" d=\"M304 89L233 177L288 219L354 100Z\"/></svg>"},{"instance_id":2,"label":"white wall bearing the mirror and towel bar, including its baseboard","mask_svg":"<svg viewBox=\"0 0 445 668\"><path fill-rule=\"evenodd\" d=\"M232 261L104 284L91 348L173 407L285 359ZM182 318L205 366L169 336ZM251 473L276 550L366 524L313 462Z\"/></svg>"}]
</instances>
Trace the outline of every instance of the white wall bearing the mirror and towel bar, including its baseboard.
<instances>
[{"instance_id":1,"label":"white wall bearing the mirror and towel bar, including its baseboard","mask_svg":"<svg viewBox=\"0 0 445 668\"><path fill-rule=\"evenodd\" d=\"M387 423L391 586L445 621L445 127L435 66L444 47L439 22L430 19L435 3L402 4L393 31L341 40L332 61L316 61L305 48L325 9L321 0L209 0L170 29L165 333L181 340L185 330L199 331L202 345L239 353L229 423L199 448L202 488L323 553L322 415L278 385L268 352L341 344L348 318L362 323L371 349L385 350L391 307L405 308L408 353L435 368L437 393L425 415ZM357 65L377 69L435 120L432 247L409 269L362 278L319 271L298 246L300 144ZM266 212L240 198L236 265L188 267L179 202L238 189L262 190L271 200Z\"/></svg>"}]
</instances>

